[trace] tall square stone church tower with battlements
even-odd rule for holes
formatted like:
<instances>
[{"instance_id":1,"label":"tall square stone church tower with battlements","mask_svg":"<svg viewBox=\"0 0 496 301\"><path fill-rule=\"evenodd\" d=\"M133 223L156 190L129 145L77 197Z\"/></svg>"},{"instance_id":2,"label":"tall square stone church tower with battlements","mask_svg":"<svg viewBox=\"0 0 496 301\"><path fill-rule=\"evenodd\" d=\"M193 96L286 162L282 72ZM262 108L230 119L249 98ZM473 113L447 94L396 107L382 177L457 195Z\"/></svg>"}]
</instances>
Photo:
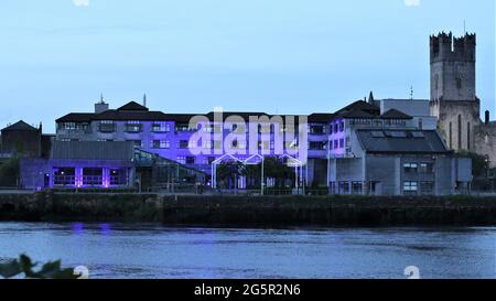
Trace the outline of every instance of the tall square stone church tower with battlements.
<instances>
[{"instance_id":1,"label":"tall square stone church tower with battlements","mask_svg":"<svg viewBox=\"0 0 496 301\"><path fill-rule=\"evenodd\" d=\"M474 128L481 123L481 101L476 96L476 36L453 37L440 33L430 37L431 115L446 146L473 151Z\"/></svg>"}]
</instances>

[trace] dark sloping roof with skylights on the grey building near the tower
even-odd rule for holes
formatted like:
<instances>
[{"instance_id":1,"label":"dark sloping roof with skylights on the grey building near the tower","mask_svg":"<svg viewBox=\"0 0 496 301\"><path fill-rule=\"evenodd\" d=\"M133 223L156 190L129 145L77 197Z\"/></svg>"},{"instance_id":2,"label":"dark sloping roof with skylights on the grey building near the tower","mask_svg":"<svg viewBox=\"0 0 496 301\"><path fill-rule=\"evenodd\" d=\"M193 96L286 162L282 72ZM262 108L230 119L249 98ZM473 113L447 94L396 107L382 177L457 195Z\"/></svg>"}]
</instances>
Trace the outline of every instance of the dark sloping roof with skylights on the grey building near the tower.
<instances>
[{"instance_id":1,"label":"dark sloping roof with skylights on the grey building near the tower","mask_svg":"<svg viewBox=\"0 0 496 301\"><path fill-rule=\"evenodd\" d=\"M451 153L435 130L357 130L368 153Z\"/></svg>"}]
</instances>

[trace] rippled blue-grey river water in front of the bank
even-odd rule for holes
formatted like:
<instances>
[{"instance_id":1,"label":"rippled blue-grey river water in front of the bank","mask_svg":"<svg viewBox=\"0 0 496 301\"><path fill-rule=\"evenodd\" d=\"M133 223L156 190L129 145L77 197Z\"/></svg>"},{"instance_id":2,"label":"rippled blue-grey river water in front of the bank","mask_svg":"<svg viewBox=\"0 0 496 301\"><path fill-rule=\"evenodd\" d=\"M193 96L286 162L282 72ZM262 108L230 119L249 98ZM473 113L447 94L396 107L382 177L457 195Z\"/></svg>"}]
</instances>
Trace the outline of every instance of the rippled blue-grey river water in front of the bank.
<instances>
[{"instance_id":1,"label":"rippled blue-grey river water in front of the bank","mask_svg":"<svg viewBox=\"0 0 496 301\"><path fill-rule=\"evenodd\" d=\"M496 228L217 229L0 223L0 261L86 266L90 278L496 278Z\"/></svg>"}]
</instances>

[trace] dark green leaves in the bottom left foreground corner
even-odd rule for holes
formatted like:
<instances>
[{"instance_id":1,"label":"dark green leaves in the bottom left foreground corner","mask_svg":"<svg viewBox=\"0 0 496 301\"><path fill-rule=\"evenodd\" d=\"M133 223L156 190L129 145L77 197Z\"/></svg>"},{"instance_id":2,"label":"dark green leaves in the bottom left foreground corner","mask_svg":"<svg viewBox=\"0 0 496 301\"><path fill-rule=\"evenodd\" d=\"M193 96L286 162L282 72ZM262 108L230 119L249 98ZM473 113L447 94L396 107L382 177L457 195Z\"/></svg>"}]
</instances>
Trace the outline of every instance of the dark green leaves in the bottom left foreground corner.
<instances>
[{"instance_id":1,"label":"dark green leaves in the bottom left foreground corner","mask_svg":"<svg viewBox=\"0 0 496 301\"><path fill-rule=\"evenodd\" d=\"M37 271L33 270L36 266L37 262L33 264L31 258L21 255L19 259L0 265L0 277L13 278L20 275L31 279L77 279L79 277L74 275L73 269L62 269L61 260L46 262Z\"/></svg>"}]
</instances>

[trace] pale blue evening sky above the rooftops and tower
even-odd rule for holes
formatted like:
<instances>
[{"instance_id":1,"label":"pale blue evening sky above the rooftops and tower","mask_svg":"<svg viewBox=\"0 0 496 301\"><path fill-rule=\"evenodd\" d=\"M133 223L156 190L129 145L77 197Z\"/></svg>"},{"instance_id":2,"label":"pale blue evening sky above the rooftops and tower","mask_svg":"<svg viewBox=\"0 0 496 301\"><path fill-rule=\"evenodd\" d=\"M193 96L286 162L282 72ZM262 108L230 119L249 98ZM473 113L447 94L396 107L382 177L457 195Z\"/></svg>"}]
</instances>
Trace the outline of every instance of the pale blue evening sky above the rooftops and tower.
<instances>
[{"instance_id":1,"label":"pale blue evening sky above the rooftops and tower","mask_svg":"<svg viewBox=\"0 0 496 301\"><path fill-rule=\"evenodd\" d=\"M0 126L148 95L165 112L334 111L429 97L429 35L477 33L495 112L494 0L2 0ZM494 115L494 114L493 114Z\"/></svg>"}]
</instances>

